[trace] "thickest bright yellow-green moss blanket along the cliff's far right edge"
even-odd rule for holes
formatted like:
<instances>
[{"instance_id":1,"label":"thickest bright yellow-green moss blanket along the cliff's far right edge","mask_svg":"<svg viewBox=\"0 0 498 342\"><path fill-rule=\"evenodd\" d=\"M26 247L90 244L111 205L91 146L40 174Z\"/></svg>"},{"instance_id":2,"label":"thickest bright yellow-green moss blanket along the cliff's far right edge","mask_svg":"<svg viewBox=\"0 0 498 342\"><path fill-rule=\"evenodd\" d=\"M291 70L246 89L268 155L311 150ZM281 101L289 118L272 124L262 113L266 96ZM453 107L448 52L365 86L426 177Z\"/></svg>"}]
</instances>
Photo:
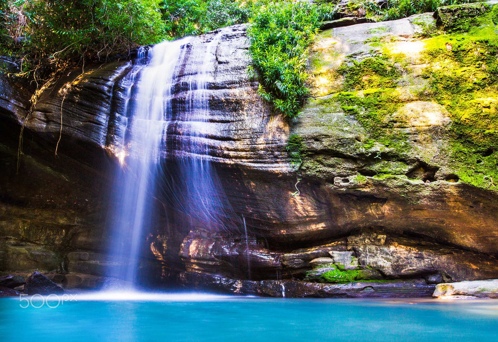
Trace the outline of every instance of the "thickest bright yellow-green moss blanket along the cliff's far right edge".
<instances>
[{"instance_id":1,"label":"thickest bright yellow-green moss blanket along the cliff's far right edge","mask_svg":"<svg viewBox=\"0 0 498 342\"><path fill-rule=\"evenodd\" d=\"M451 33L426 40L423 55L431 78L428 97L443 105L453 121L450 167L462 181L496 190L498 36L493 18L498 6L479 8L485 14L468 25L453 25Z\"/></svg>"}]
</instances>

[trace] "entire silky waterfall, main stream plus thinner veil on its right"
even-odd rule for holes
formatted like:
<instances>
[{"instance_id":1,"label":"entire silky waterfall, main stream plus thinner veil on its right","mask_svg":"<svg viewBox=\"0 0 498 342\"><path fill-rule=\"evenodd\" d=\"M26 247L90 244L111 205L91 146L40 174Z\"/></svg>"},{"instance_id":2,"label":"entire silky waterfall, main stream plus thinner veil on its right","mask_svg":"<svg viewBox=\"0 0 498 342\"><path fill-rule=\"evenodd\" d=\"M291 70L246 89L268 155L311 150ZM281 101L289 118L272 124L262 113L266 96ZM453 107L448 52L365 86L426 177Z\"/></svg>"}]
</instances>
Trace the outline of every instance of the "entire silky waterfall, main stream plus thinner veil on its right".
<instances>
[{"instance_id":1,"label":"entire silky waterfall, main stream plus thinner veil on its right","mask_svg":"<svg viewBox=\"0 0 498 342\"><path fill-rule=\"evenodd\" d=\"M230 205L206 144L210 68L221 36L197 49L192 37L162 42L139 55L128 73L121 166L109 215L111 277L136 282L155 199L204 228L227 225Z\"/></svg>"}]
</instances>

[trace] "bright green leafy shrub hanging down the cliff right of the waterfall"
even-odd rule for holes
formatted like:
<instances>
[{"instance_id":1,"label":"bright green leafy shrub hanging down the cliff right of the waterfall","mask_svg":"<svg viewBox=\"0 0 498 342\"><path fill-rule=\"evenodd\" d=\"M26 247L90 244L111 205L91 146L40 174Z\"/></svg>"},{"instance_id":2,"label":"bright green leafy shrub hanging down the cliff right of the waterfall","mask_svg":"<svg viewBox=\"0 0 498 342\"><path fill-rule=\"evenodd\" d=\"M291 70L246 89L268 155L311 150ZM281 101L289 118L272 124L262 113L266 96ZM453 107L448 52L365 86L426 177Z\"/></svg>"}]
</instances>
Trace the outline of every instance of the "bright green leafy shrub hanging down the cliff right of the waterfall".
<instances>
[{"instance_id":1,"label":"bright green leafy shrub hanging down the cliff right of the waterfall","mask_svg":"<svg viewBox=\"0 0 498 342\"><path fill-rule=\"evenodd\" d=\"M308 46L320 26L316 5L277 2L262 6L249 27L250 56L259 94L284 116L297 116L305 85Z\"/></svg>"}]
</instances>

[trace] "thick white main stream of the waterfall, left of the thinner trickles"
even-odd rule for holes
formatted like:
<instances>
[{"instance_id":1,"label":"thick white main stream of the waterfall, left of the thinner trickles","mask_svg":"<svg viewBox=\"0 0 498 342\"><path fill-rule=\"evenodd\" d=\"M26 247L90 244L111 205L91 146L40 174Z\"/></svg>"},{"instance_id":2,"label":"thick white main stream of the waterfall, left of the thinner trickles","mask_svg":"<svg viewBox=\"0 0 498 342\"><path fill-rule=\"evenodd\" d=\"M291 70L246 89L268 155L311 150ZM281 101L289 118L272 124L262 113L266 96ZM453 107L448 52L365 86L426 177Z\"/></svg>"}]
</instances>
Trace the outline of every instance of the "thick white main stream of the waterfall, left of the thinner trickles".
<instances>
[{"instance_id":1,"label":"thick white main stream of the waterfall, left of the thinner trickles","mask_svg":"<svg viewBox=\"0 0 498 342\"><path fill-rule=\"evenodd\" d=\"M171 117L171 88L185 52L181 47L188 41L155 45L146 55L139 55L129 77L121 167L114 185L117 205L111 214L110 254L117 266L110 275L132 283L136 280L142 234L150 224L161 141Z\"/></svg>"}]
</instances>

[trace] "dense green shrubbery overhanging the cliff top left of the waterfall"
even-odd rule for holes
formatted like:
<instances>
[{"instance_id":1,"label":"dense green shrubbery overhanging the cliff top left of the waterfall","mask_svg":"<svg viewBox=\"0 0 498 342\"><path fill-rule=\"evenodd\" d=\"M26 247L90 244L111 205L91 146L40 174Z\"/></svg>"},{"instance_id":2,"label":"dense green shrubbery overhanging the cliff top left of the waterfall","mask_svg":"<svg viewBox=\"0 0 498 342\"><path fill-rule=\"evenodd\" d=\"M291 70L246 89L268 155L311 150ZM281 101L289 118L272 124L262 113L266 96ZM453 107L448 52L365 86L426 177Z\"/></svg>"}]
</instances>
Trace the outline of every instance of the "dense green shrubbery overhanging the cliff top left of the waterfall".
<instances>
[{"instance_id":1,"label":"dense green shrubbery overhanging the cliff top left of the waterfall","mask_svg":"<svg viewBox=\"0 0 498 342\"><path fill-rule=\"evenodd\" d=\"M5 45L2 54L19 70L7 75L34 76L49 82L85 61L128 55L132 48L164 39L159 0L3 0L8 21L0 29L23 44ZM14 41L15 41L14 39ZM11 39L12 40L12 39Z\"/></svg>"}]
</instances>

